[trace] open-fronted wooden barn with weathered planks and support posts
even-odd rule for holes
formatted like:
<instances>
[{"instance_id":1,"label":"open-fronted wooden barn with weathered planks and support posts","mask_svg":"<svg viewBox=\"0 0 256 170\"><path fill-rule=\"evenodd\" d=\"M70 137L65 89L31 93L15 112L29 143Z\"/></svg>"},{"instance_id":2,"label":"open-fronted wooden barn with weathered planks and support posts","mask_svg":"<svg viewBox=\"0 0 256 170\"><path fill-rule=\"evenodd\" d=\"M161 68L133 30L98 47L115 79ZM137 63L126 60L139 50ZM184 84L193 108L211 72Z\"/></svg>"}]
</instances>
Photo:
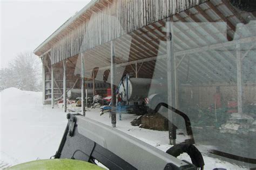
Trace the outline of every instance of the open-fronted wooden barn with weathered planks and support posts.
<instances>
[{"instance_id":1,"label":"open-fronted wooden barn with weathered planks and support posts","mask_svg":"<svg viewBox=\"0 0 256 170\"><path fill-rule=\"evenodd\" d=\"M43 103L64 98L66 111L73 87L83 105L86 89L97 93L96 81L115 96L129 74L161 81L168 104L197 126L217 126L233 113L254 119L256 12L234 2L92 0L34 51L43 62ZM168 118L178 121L170 112ZM169 132L174 143L171 125Z\"/></svg>"}]
</instances>

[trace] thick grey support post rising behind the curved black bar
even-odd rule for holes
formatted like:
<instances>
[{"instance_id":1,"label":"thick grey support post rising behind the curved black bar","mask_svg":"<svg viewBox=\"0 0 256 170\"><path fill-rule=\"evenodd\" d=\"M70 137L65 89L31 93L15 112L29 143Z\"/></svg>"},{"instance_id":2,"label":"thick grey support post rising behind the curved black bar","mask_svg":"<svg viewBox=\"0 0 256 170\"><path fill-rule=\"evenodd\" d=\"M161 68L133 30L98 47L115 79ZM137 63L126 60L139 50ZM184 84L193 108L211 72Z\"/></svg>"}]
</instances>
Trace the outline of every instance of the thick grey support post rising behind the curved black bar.
<instances>
[{"instance_id":1,"label":"thick grey support post rising behind the curved black bar","mask_svg":"<svg viewBox=\"0 0 256 170\"><path fill-rule=\"evenodd\" d=\"M173 25L172 22L166 22L166 45L167 45L167 87L168 104L176 107L176 66L173 47ZM170 145L176 145L176 127L173 125L174 117L171 110L168 110L169 119L169 139Z\"/></svg>"}]
</instances>

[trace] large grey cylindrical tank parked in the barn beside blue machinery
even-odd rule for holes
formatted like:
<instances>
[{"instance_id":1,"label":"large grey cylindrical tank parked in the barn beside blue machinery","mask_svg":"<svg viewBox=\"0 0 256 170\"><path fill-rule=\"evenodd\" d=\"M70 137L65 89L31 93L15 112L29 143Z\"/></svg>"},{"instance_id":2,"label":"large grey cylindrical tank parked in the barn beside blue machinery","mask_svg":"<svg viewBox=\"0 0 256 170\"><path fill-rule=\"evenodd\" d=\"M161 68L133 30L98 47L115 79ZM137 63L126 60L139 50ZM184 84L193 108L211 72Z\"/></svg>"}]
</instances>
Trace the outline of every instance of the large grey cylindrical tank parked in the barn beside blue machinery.
<instances>
[{"instance_id":1,"label":"large grey cylindrical tank parked in the barn beside blue machinery","mask_svg":"<svg viewBox=\"0 0 256 170\"><path fill-rule=\"evenodd\" d=\"M148 78L130 78L124 76L117 86L117 112L152 113L158 103L166 102L163 84ZM107 97L106 101L111 101ZM111 103L100 107L100 114L111 111Z\"/></svg>"}]
</instances>

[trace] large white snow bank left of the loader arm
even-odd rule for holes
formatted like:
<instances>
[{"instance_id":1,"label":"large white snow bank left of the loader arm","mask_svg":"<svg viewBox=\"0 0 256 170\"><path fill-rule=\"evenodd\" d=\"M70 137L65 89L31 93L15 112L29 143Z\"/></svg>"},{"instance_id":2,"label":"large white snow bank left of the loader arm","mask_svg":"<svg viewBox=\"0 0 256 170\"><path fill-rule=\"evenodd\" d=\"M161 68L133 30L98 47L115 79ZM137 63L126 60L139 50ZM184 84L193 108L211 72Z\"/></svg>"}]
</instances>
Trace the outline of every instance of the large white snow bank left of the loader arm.
<instances>
[{"instance_id":1,"label":"large white snow bank left of the loader arm","mask_svg":"<svg viewBox=\"0 0 256 170\"><path fill-rule=\"evenodd\" d=\"M42 105L42 92L16 88L0 92L1 157L16 165L47 159L57 151L66 126L66 114Z\"/></svg>"}]
</instances>

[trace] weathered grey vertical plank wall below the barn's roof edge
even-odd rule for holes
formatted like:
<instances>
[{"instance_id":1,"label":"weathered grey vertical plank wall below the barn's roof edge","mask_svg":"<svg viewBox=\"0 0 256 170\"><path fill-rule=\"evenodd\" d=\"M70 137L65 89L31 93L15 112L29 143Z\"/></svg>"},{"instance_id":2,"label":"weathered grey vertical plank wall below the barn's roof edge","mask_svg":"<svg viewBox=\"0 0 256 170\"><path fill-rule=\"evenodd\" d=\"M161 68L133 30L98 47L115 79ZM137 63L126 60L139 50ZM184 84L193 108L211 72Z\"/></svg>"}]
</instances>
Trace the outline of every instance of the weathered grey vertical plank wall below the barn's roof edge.
<instances>
[{"instance_id":1,"label":"weathered grey vertical plank wall below the barn's roof edge","mask_svg":"<svg viewBox=\"0 0 256 170\"><path fill-rule=\"evenodd\" d=\"M52 64L184 11L207 0L113 0L93 12L51 49ZM80 46L82 45L82 49Z\"/></svg>"}]
</instances>

